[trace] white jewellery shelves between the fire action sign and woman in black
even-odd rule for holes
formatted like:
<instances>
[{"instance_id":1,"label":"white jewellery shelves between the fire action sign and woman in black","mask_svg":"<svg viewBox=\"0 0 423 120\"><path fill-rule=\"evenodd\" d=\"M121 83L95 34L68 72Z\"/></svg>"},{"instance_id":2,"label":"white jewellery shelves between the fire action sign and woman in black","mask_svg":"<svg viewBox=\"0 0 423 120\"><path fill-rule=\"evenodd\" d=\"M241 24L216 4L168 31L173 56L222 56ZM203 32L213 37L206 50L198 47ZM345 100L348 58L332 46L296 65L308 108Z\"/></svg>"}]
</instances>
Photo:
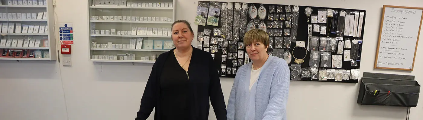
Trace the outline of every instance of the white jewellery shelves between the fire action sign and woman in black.
<instances>
[{"instance_id":1,"label":"white jewellery shelves between the fire action sign and woman in black","mask_svg":"<svg viewBox=\"0 0 423 120\"><path fill-rule=\"evenodd\" d=\"M175 0L90 0L90 61L154 63L173 49Z\"/></svg>"}]
</instances>

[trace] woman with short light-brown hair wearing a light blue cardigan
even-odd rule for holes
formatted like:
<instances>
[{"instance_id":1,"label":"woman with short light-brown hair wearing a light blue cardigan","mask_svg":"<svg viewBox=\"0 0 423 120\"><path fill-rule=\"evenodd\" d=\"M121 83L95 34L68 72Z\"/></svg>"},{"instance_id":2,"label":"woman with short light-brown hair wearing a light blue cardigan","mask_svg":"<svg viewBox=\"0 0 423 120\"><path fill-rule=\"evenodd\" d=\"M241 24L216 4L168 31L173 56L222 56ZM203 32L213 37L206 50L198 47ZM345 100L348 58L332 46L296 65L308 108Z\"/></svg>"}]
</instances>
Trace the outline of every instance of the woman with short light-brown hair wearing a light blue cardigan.
<instances>
[{"instance_id":1,"label":"woman with short light-brown hair wearing a light blue cardigan","mask_svg":"<svg viewBox=\"0 0 423 120\"><path fill-rule=\"evenodd\" d=\"M253 61L235 76L228 101L228 120L286 120L290 71L285 60L269 55L269 35L260 29L244 36Z\"/></svg>"}]
</instances>

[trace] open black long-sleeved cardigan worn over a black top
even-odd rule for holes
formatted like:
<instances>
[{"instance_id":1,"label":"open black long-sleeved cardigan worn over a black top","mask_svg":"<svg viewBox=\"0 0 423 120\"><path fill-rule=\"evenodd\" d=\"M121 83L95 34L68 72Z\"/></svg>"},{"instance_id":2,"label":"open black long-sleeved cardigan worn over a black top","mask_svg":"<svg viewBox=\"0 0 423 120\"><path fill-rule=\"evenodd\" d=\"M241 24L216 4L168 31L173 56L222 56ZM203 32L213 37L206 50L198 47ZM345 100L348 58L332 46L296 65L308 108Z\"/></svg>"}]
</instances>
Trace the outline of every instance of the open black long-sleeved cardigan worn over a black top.
<instances>
[{"instance_id":1,"label":"open black long-sleeved cardigan worn over a black top","mask_svg":"<svg viewBox=\"0 0 423 120\"><path fill-rule=\"evenodd\" d=\"M188 69L190 76L190 120L207 120L209 118L209 102L213 106L217 120L227 120L226 105L223 98L222 87L220 86L220 78L218 70L214 65L213 57L209 52L205 52L198 48L192 47L191 63ZM160 76L162 74L163 65L172 50L162 53L157 57L153 65L150 76L141 98L140 111L137 112L135 120L146 120L153 108L154 120L160 119ZM210 98L210 99L209 99Z\"/></svg>"}]
</instances>

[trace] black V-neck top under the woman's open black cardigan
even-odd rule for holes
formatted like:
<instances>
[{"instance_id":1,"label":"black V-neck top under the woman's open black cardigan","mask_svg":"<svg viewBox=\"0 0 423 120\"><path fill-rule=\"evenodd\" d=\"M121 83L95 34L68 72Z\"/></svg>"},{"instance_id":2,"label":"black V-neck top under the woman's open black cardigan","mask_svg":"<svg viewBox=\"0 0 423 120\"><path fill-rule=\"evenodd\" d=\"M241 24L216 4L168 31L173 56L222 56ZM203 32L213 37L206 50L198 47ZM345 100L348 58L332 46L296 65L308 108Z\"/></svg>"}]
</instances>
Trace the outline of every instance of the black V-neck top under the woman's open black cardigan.
<instances>
[{"instance_id":1,"label":"black V-neck top under the woman's open black cardigan","mask_svg":"<svg viewBox=\"0 0 423 120\"><path fill-rule=\"evenodd\" d=\"M188 120L189 83L187 72L182 68L173 52L169 55L160 77L160 110L162 120Z\"/></svg>"}]
</instances>

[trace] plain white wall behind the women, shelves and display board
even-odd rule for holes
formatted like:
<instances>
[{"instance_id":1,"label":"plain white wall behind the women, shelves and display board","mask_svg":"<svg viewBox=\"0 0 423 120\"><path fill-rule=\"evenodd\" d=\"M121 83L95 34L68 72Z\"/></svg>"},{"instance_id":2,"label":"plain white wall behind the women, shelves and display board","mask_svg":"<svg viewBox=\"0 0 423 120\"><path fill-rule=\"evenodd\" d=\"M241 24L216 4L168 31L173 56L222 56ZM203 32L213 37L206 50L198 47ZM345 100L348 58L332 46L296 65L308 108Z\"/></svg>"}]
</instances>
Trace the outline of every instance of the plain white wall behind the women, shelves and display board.
<instances>
[{"instance_id":1,"label":"plain white wall behind the women, shelves and display board","mask_svg":"<svg viewBox=\"0 0 423 120\"><path fill-rule=\"evenodd\" d=\"M176 3L176 18L189 20L195 26L193 20L197 2L179 0ZM231 2L258 1L231 0ZM423 65L418 62L423 60L421 55L423 47L418 48L415 69L412 72L373 69L382 5L423 7L422 0L403 2L263 0L261 2L367 10L361 72L415 75L420 84L423 84L423 77L418 74L423 72L421 68ZM0 120L66 120L67 117L69 120L135 118L152 64L89 62L87 4L86 0L57 0L57 22L74 23L75 44L72 46L71 67L63 67L57 61L0 61ZM196 27L193 29L197 30ZM423 38L422 34L420 38ZM231 78L221 78L226 102L232 81ZM291 81L288 120L406 120L407 108L404 107L358 105L356 103L358 85ZM423 118L422 98L420 97L419 105L411 109L410 120ZM209 118L215 120L212 109Z\"/></svg>"}]
</instances>

